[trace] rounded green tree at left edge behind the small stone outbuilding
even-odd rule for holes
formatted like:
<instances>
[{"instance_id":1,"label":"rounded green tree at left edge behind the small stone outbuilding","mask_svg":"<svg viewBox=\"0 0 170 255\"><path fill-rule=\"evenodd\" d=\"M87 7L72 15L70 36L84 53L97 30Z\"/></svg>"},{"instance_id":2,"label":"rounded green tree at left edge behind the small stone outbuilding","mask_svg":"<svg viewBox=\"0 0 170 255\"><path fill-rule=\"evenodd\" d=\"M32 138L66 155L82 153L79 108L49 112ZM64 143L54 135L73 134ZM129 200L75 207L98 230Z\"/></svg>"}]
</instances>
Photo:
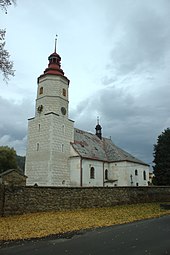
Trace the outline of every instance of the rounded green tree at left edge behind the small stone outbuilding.
<instances>
[{"instance_id":1,"label":"rounded green tree at left edge behind the small stone outbuilding","mask_svg":"<svg viewBox=\"0 0 170 255\"><path fill-rule=\"evenodd\" d=\"M0 173L17 169L16 151L8 146L0 146Z\"/></svg>"}]
</instances>

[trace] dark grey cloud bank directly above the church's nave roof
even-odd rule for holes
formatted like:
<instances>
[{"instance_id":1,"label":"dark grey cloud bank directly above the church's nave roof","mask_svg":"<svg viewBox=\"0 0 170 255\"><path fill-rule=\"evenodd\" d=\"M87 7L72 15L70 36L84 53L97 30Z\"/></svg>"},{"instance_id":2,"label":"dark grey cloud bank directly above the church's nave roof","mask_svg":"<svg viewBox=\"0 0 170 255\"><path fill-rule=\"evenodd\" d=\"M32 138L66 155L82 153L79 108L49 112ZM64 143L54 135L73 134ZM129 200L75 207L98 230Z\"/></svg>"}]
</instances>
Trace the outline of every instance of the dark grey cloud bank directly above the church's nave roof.
<instances>
[{"instance_id":1,"label":"dark grey cloud bank directly above the church's nave roof","mask_svg":"<svg viewBox=\"0 0 170 255\"><path fill-rule=\"evenodd\" d=\"M164 79L154 80L155 87L154 84L146 86L137 95L127 87L113 85L103 88L83 102L80 115L77 107L75 125L95 132L99 115L104 136L111 136L118 146L151 163L157 136L167 125L170 126L170 86ZM145 82L149 81L146 79Z\"/></svg>"}]
</instances>

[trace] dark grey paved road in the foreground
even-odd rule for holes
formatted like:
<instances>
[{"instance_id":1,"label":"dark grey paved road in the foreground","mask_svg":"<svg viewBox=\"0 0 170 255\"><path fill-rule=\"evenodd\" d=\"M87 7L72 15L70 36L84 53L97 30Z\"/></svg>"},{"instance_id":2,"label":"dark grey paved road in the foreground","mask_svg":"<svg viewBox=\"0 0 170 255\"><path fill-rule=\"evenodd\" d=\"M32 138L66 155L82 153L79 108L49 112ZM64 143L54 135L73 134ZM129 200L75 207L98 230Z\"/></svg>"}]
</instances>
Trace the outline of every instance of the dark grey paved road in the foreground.
<instances>
[{"instance_id":1,"label":"dark grey paved road in the foreground","mask_svg":"<svg viewBox=\"0 0 170 255\"><path fill-rule=\"evenodd\" d=\"M0 255L170 255L170 216L79 232L67 238L13 243Z\"/></svg>"}]
</instances>

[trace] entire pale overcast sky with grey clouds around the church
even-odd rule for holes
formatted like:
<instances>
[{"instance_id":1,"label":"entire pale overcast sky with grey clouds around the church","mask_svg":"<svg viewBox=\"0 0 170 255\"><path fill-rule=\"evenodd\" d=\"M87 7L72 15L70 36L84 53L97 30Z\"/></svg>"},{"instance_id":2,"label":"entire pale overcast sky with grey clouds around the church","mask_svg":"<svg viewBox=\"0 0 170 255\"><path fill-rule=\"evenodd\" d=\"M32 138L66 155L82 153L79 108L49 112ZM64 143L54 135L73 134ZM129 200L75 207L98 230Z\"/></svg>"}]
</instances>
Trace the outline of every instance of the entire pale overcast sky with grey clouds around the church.
<instances>
[{"instance_id":1,"label":"entire pale overcast sky with grey clouds around the church","mask_svg":"<svg viewBox=\"0 0 170 255\"><path fill-rule=\"evenodd\" d=\"M57 52L70 79L70 118L151 164L153 144L170 126L169 0L17 0L8 14L6 49L15 77L0 76L0 145L25 155L37 77Z\"/></svg>"}]
</instances>

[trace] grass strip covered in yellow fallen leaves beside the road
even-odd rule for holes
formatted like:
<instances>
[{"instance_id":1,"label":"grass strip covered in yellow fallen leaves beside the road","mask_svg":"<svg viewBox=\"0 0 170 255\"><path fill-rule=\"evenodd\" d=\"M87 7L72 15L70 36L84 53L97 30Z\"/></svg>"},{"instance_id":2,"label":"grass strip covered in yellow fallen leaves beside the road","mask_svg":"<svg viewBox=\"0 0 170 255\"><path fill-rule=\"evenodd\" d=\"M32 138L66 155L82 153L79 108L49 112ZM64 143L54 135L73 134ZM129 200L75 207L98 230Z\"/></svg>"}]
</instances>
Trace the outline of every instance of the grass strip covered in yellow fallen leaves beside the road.
<instances>
[{"instance_id":1,"label":"grass strip covered in yellow fallen leaves beside the road","mask_svg":"<svg viewBox=\"0 0 170 255\"><path fill-rule=\"evenodd\" d=\"M40 238L165 214L170 214L170 210L160 209L160 203L150 203L0 217L0 241Z\"/></svg>"}]
</instances>

